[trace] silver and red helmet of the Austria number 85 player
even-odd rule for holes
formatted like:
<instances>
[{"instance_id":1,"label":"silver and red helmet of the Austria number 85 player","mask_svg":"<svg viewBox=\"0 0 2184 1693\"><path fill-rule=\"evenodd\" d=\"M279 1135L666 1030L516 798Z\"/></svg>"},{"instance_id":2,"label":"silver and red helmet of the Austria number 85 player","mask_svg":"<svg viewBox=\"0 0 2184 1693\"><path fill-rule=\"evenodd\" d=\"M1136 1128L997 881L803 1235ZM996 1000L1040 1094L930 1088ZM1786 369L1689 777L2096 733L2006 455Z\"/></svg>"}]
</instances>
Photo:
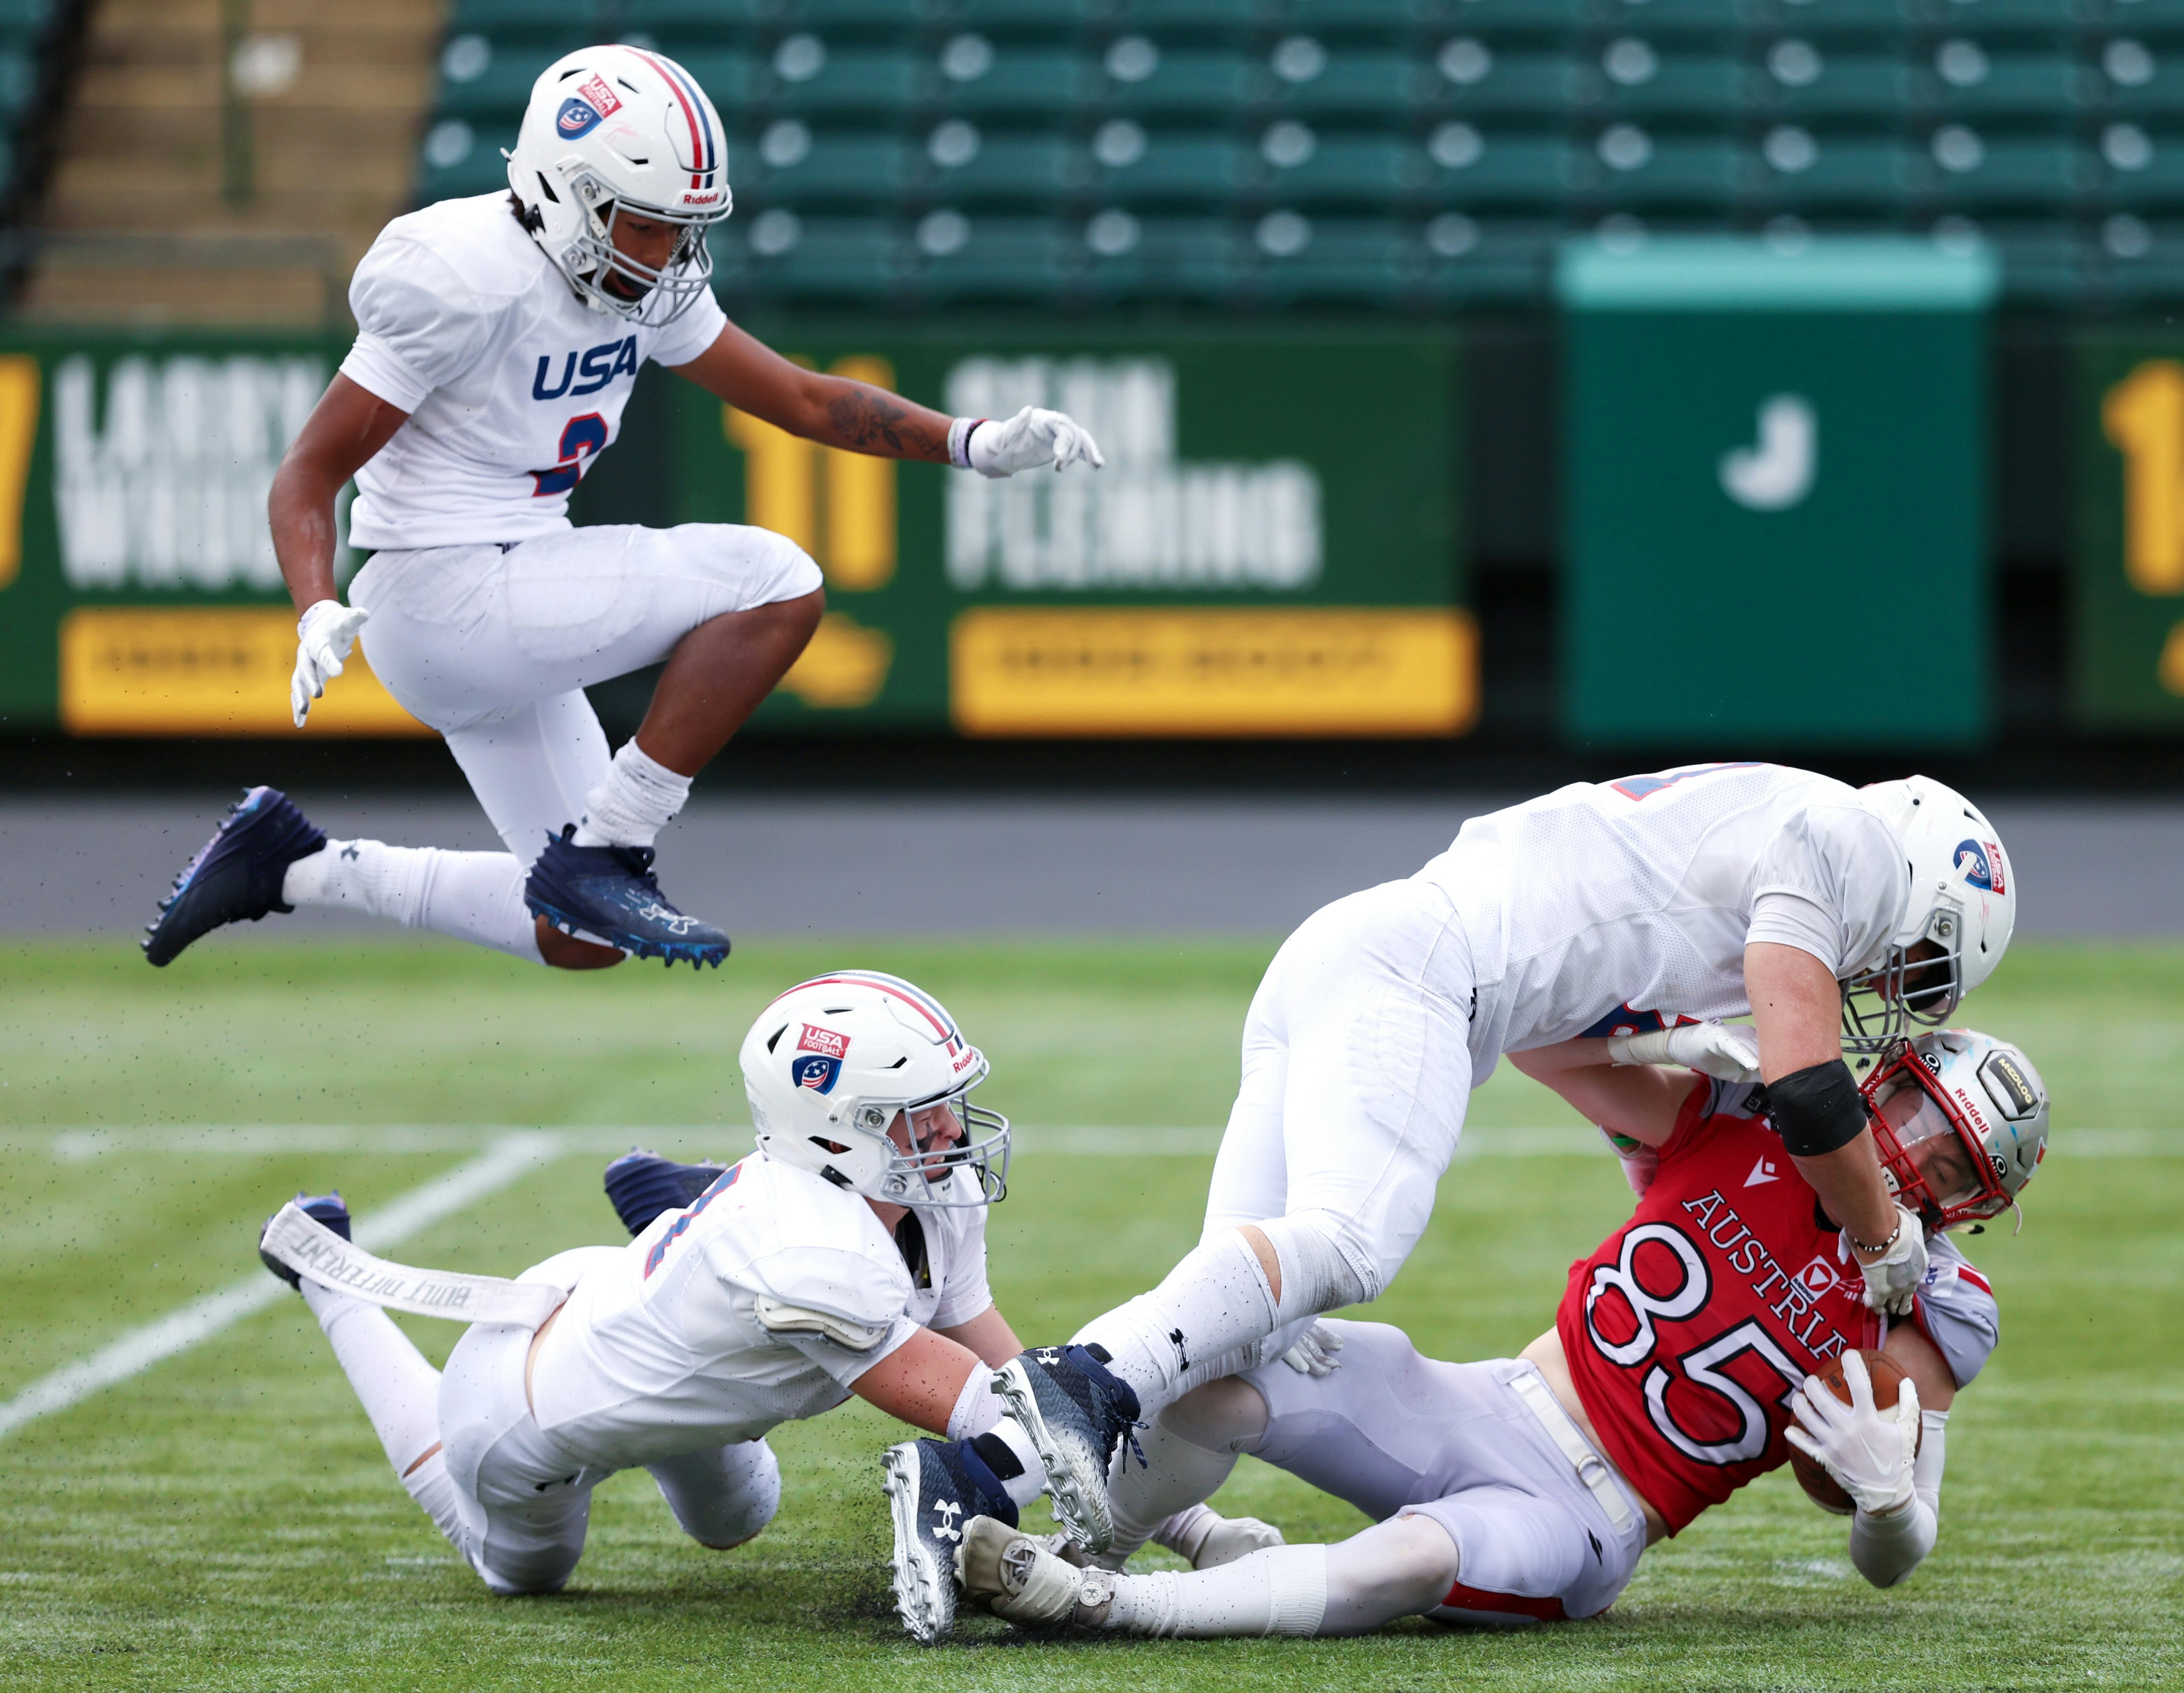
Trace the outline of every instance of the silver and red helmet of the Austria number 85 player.
<instances>
[{"instance_id":1,"label":"silver and red helmet of the Austria number 85 player","mask_svg":"<svg viewBox=\"0 0 2184 1693\"><path fill-rule=\"evenodd\" d=\"M1935 1029L1891 1049L1861 1092L1898 1204L1944 1230L2009 1210L2046 1153L2049 1097L2016 1046Z\"/></svg>"}]
</instances>

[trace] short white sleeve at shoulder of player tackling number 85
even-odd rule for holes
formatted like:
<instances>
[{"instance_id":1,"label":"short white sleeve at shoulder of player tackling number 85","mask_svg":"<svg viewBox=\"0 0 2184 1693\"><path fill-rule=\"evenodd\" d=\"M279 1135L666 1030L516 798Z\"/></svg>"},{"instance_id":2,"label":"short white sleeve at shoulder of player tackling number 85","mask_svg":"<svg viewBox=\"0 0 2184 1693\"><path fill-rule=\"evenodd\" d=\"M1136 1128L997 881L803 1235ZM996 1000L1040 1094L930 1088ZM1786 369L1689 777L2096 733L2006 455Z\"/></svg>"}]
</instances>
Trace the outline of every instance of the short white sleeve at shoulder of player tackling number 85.
<instances>
[{"instance_id":1,"label":"short white sleeve at shoulder of player tackling number 85","mask_svg":"<svg viewBox=\"0 0 2184 1693\"><path fill-rule=\"evenodd\" d=\"M1887 824L1861 806L1813 806L1760 852L1745 939L1811 952L1841 981L1878 961L1909 896Z\"/></svg>"}]
</instances>

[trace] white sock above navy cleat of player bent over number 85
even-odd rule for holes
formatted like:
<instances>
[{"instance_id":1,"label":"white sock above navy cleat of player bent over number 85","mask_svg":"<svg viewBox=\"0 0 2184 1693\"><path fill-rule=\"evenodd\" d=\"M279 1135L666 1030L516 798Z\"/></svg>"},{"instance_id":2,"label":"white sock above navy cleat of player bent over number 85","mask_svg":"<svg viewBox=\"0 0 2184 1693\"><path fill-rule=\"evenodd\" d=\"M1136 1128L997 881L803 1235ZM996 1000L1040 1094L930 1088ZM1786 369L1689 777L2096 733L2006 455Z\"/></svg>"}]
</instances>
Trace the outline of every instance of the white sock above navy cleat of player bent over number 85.
<instances>
[{"instance_id":1,"label":"white sock above navy cleat of player bent over number 85","mask_svg":"<svg viewBox=\"0 0 2184 1693\"><path fill-rule=\"evenodd\" d=\"M1151 1422L1201 1381L1219 1381L1241 1363L1227 1354L1256 1348L1280 1322L1273 1287L1238 1230L1225 1230L1190 1252L1151 1293L1094 1317L1070 1339L1107 1348L1107 1365L1138 1394L1138 1416ZM1230 1368L1210 1374L1210 1368Z\"/></svg>"}]
</instances>

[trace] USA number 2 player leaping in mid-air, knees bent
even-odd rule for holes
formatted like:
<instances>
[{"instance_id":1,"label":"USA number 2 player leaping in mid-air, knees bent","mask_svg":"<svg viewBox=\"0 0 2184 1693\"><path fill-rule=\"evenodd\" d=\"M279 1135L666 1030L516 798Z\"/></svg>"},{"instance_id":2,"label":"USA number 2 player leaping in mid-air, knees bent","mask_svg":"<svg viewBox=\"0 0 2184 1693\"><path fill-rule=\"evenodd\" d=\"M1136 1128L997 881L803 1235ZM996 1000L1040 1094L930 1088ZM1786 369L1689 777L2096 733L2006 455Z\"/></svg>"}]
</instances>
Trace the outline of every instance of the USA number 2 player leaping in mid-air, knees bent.
<instances>
[{"instance_id":1,"label":"USA number 2 player leaping in mid-air, knees bent","mask_svg":"<svg viewBox=\"0 0 2184 1693\"><path fill-rule=\"evenodd\" d=\"M328 841L251 789L162 902L168 963L221 924L339 907L568 970L636 952L719 966L727 935L677 911L653 843L695 778L819 625L819 566L738 524L572 529L568 496L651 358L830 448L1009 476L1101 465L1070 417L943 417L799 369L721 315L708 232L729 214L721 116L673 59L596 46L531 90L509 192L387 225L356 267L358 336L273 478L295 599L297 727L363 636L437 730L507 852ZM334 581L334 502L373 557ZM369 625L369 631L367 631ZM583 690L660 664L609 760Z\"/></svg>"}]
</instances>

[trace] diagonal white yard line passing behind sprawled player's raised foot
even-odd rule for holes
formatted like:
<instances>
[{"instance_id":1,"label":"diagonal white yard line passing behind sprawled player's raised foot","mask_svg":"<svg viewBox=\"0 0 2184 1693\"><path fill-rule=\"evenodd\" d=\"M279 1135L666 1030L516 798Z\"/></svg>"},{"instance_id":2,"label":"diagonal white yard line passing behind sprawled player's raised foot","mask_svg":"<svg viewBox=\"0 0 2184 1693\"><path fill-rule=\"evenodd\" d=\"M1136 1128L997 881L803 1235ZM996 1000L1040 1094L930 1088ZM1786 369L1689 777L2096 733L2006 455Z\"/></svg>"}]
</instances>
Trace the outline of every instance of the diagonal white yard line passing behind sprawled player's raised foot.
<instances>
[{"instance_id":1,"label":"diagonal white yard line passing behind sprawled player's raised foot","mask_svg":"<svg viewBox=\"0 0 2184 1693\"><path fill-rule=\"evenodd\" d=\"M474 1206L491 1193L509 1186L518 1177L550 1164L570 1147L557 1134L522 1132L502 1134L480 1158L472 1158L446 1175L437 1175L419 1188L411 1188L391 1206L356 1219L356 1243L371 1252L400 1245L411 1234L430 1228L441 1217ZM186 1352L199 1341L207 1341L223 1328L242 1322L253 1311L262 1311L282 1295L286 1284L264 1271L245 1282L207 1293L181 1311L173 1311L159 1322L131 1328L116 1341L100 1346L87 1359L63 1365L24 1387L15 1398L0 1402L0 1435L9 1435L33 1418L50 1416L74 1405L79 1398L129 1381L162 1359Z\"/></svg>"}]
</instances>

